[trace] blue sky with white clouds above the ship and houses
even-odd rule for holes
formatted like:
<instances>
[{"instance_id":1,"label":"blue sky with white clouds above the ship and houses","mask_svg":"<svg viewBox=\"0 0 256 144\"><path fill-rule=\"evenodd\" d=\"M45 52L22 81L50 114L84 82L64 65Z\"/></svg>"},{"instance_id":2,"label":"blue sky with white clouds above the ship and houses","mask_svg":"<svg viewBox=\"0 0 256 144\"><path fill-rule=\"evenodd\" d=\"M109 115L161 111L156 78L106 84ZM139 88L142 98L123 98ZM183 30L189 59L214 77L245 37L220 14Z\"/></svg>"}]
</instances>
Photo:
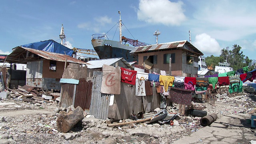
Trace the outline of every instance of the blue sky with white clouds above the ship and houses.
<instances>
[{"instance_id":1,"label":"blue sky with white clouds above the ship and houses","mask_svg":"<svg viewBox=\"0 0 256 144\"><path fill-rule=\"evenodd\" d=\"M122 35L156 44L188 40L204 56L219 56L237 44L255 60L255 0L2 0L0 54L43 40L60 42L63 24L67 47L93 49L92 34L119 40ZM95 56L92 56L95 57Z\"/></svg>"}]
</instances>

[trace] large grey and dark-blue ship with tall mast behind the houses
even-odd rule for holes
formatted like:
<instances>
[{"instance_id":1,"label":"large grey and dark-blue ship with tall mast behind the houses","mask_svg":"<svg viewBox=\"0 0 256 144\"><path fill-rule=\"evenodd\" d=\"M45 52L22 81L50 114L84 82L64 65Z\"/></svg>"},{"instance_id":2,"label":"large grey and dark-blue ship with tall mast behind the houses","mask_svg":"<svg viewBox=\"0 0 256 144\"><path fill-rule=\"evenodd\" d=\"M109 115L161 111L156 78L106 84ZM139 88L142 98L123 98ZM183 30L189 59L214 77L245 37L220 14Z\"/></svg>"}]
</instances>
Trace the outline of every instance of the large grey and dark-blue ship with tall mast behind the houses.
<instances>
[{"instance_id":1,"label":"large grey and dark-blue ship with tall mast behind the houses","mask_svg":"<svg viewBox=\"0 0 256 144\"><path fill-rule=\"evenodd\" d=\"M148 45L138 40L132 40L122 36L122 20L121 13L119 19L119 41L109 40L106 34L93 34L92 35L92 46L97 52L100 59L106 58L124 58L127 62L138 61L138 57L131 56L130 51L134 49L133 46L145 46ZM132 44L126 44L126 42Z\"/></svg>"}]
</instances>

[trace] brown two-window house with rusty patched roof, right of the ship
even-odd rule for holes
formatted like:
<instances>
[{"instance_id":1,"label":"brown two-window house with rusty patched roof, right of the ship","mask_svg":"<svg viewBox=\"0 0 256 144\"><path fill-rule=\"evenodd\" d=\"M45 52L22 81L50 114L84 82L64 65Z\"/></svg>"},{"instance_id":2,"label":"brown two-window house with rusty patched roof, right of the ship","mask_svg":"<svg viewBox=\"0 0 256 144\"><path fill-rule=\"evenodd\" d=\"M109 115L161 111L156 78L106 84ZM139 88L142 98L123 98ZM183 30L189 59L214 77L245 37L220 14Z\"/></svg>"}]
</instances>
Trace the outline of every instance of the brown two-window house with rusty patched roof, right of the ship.
<instances>
[{"instance_id":1,"label":"brown two-window house with rusty patched roof, right of the ship","mask_svg":"<svg viewBox=\"0 0 256 144\"><path fill-rule=\"evenodd\" d=\"M154 44L134 48L130 54L138 56L138 64L148 69L159 68L169 71L171 59L171 73L175 76L196 76L198 70L198 56L202 56L196 47L187 40Z\"/></svg>"}]
</instances>

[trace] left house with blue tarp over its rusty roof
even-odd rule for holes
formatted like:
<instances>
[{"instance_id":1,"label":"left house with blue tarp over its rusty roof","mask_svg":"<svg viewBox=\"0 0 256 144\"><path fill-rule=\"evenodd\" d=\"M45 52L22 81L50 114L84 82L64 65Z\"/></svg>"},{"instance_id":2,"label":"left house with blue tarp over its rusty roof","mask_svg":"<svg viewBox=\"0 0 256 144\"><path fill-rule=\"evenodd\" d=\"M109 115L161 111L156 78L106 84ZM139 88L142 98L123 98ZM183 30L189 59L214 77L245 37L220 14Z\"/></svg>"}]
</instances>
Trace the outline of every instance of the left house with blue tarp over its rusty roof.
<instances>
[{"instance_id":1,"label":"left house with blue tarp over its rusty roof","mask_svg":"<svg viewBox=\"0 0 256 144\"><path fill-rule=\"evenodd\" d=\"M71 49L58 42L47 40L13 48L6 62L27 64L26 85L60 90L60 78L69 63L88 64L72 58L72 53Z\"/></svg>"}]
</instances>

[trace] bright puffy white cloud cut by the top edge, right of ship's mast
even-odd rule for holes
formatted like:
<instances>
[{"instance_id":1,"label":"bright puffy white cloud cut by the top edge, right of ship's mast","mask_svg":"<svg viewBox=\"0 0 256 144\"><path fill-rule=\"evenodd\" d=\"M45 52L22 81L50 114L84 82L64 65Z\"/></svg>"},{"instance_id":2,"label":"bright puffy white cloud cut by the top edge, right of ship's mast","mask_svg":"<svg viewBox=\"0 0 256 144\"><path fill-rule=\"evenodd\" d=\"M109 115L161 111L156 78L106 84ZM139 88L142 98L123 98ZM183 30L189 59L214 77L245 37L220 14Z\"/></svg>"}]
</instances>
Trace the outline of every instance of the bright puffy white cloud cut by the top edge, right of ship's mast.
<instances>
[{"instance_id":1,"label":"bright puffy white cloud cut by the top edge, right of ship's mast","mask_svg":"<svg viewBox=\"0 0 256 144\"><path fill-rule=\"evenodd\" d=\"M138 20L166 26L180 25L186 20L183 2L169 0L140 0L137 12Z\"/></svg>"}]
</instances>

